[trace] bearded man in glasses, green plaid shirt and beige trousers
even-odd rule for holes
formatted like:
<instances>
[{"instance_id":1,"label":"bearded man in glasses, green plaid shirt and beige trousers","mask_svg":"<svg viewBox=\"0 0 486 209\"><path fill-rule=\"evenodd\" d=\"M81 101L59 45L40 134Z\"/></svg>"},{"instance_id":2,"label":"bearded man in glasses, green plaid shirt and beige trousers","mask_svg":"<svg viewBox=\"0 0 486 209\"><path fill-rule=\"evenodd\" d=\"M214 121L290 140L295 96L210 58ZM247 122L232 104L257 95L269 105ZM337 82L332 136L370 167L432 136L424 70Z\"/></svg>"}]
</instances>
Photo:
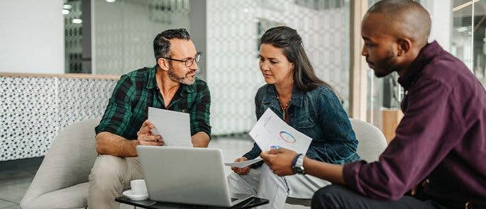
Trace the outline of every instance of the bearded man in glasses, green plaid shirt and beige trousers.
<instances>
[{"instance_id":1,"label":"bearded man in glasses, green plaid shirt and beige trousers","mask_svg":"<svg viewBox=\"0 0 486 209\"><path fill-rule=\"evenodd\" d=\"M118 208L115 197L133 179L143 179L137 145L160 146L147 120L148 107L190 115L192 145L207 147L211 98L205 81L196 77L201 54L186 29L164 30L153 40L155 66L121 76L96 126L99 156L89 175L89 208Z\"/></svg>"}]
</instances>

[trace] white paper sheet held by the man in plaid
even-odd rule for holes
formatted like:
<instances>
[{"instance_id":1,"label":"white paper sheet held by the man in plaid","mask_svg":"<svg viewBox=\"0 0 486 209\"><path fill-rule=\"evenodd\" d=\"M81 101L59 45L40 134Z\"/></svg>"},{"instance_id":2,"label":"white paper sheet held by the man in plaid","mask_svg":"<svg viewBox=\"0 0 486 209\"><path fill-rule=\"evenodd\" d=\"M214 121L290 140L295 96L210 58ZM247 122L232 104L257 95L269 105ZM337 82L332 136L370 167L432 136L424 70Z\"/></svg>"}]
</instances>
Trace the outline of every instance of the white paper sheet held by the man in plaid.
<instances>
[{"instance_id":1,"label":"white paper sheet held by the man in plaid","mask_svg":"<svg viewBox=\"0 0 486 209\"><path fill-rule=\"evenodd\" d=\"M149 107L148 120L155 126L151 132L162 136L164 146L192 147L189 113Z\"/></svg>"}]
</instances>

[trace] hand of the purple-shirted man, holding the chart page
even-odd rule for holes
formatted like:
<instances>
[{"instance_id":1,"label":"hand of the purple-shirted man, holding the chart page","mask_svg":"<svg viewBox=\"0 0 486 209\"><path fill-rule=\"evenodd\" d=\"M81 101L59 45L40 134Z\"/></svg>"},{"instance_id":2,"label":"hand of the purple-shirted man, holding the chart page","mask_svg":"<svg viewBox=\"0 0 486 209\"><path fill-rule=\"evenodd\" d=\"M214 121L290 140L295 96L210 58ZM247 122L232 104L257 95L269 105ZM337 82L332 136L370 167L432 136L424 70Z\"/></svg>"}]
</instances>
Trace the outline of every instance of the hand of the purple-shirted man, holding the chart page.
<instances>
[{"instance_id":1,"label":"hand of the purple-shirted man, holding the chart page","mask_svg":"<svg viewBox=\"0 0 486 209\"><path fill-rule=\"evenodd\" d=\"M270 151L262 152L260 157L263 158L274 174L278 176L294 175L292 161L297 157L297 152L285 148L270 149Z\"/></svg>"}]
</instances>

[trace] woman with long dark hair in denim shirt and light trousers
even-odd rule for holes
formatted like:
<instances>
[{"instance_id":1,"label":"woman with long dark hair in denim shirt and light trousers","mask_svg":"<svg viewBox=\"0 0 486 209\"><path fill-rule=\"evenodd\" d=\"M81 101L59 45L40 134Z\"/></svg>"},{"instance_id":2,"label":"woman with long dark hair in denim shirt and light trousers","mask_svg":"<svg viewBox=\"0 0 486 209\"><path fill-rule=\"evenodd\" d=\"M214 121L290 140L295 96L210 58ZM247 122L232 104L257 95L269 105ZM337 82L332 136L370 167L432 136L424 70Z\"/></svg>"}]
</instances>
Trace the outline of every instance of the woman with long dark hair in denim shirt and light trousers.
<instances>
[{"instance_id":1,"label":"woman with long dark hair in denim shirt and light trousers","mask_svg":"<svg viewBox=\"0 0 486 209\"><path fill-rule=\"evenodd\" d=\"M260 70L265 86L255 96L257 118L270 108L299 132L312 138L306 156L321 162L344 164L359 159L358 141L346 111L331 86L314 73L297 30L286 26L270 28L260 41ZM264 150L267 151L267 150ZM260 147L236 159L243 162L260 155ZM305 175L304 156L294 159L297 175L279 177L263 163L245 168L232 167L228 176L233 193L251 193L267 198L264 207L283 208L287 196L311 198L315 191L330 183Z\"/></svg>"}]
</instances>

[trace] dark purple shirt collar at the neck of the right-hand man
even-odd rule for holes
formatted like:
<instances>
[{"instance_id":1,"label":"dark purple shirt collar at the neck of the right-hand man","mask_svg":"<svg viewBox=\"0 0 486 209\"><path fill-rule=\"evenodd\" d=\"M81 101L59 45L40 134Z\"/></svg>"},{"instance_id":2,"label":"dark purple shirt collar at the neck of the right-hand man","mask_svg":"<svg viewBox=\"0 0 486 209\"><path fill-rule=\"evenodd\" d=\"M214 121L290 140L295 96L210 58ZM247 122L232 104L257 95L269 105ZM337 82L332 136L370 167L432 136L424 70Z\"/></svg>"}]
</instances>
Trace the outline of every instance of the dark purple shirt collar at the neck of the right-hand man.
<instances>
[{"instance_id":1,"label":"dark purple shirt collar at the neck of the right-hand man","mask_svg":"<svg viewBox=\"0 0 486 209\"><path fill-rule=\"evenodd\" d=\"M432 43L423 47L414 62L410 64L409 69L401 77L398 78L398 83L407 91L412 84L419 77L420 72L429 64L433 57L442 51L442 47L434 40Z\"/></svg>"}]
</instances>

